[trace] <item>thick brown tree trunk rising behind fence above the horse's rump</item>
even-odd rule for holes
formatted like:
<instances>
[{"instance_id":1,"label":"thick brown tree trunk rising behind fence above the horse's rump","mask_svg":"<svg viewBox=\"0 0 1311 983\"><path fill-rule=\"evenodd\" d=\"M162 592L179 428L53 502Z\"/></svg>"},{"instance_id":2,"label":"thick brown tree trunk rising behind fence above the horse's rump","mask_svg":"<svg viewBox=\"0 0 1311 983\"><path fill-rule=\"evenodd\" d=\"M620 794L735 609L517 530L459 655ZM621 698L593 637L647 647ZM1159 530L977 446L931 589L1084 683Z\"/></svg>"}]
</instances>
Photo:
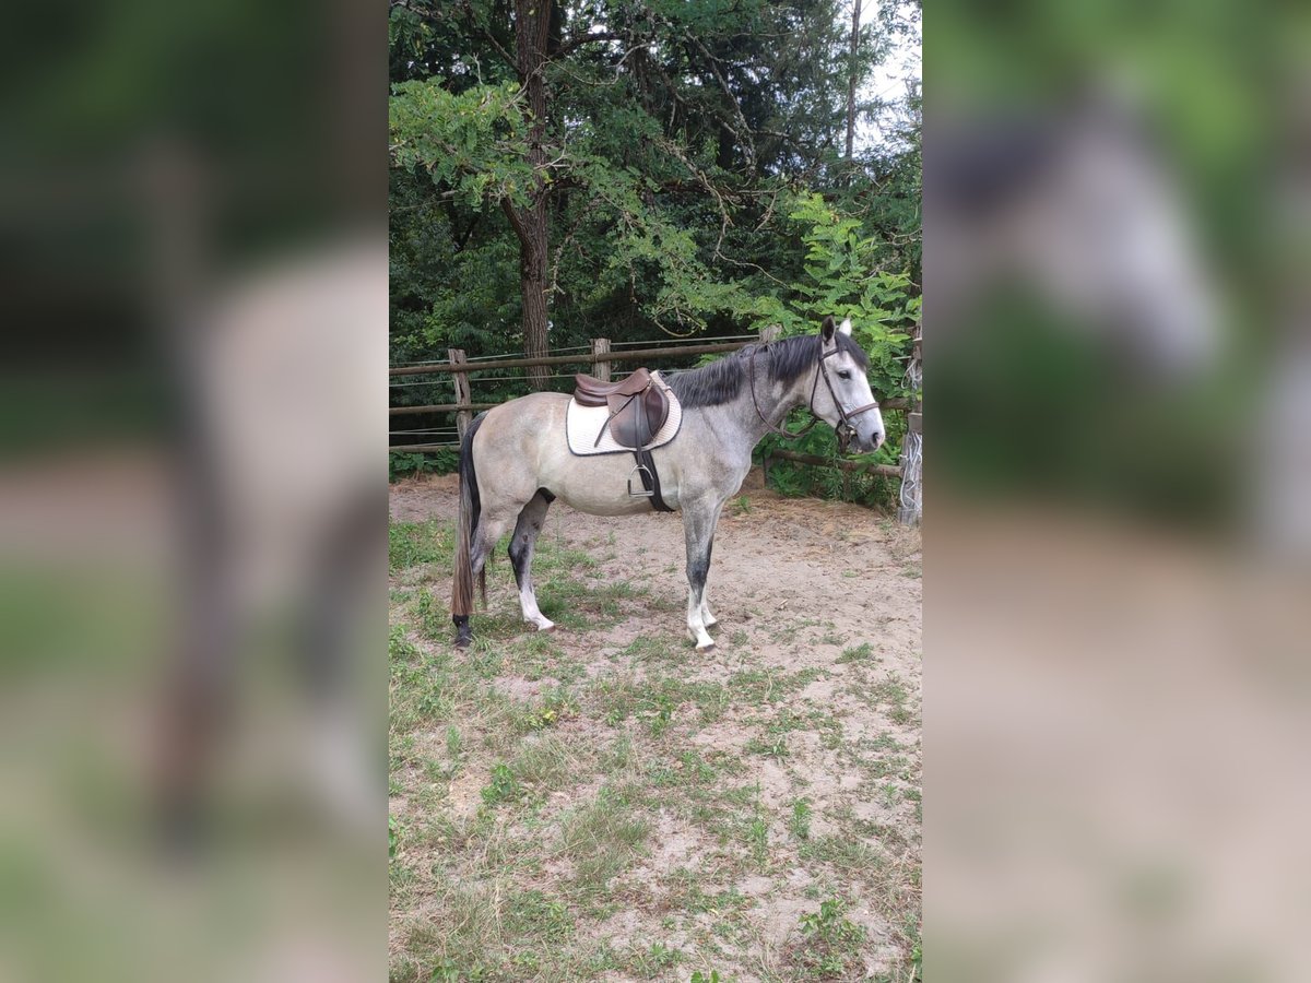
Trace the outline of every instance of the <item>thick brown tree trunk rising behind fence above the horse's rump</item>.
<instances>
[{"instance_id":1,"label":"thick brown tree trunk rising behind fence above the horse's rump","mask_svg":"<svg viewBox=\"0 0 1311 983\"><path fill-rule=\"evenodd\" d=\"M538 358L549 353L547 339L547 183L541 173L547 163L543 145L547 132L547 45L551 35L553 0L514 0L515 69L528 94L532 125L528 130L528 163L535 173L527 208L502 202L510 224L519 237L519 294L523 301L523 354ZM528 368L528 384L545 389L549 370Z\"/></svg>"}]
</instances>

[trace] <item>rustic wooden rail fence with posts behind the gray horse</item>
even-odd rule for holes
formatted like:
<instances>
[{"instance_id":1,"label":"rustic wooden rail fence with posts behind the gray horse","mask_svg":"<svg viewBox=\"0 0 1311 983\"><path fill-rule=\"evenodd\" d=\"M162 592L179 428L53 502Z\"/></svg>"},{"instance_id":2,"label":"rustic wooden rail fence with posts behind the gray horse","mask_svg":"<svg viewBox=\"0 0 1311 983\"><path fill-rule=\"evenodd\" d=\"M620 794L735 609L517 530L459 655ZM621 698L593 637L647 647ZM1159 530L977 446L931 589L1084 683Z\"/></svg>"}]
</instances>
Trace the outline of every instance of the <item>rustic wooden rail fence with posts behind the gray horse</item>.
<instances>
[{"instance_id":1,"label":"rustic wooden rail fence with posts behind the gray horse","mask_svg":"<svg viewBox=\"0 0 1311 983\"><path fill-rule=\"evenodd\" d=\"M760 333L760 341L772 341L776 332L766 330ZM463 439L465 430L473 421L473 414L480 410L498 406L497 402L475 402L469 375L485 370L505 368L534 368L549 366L590 366L591 374L603 381L610 381L610 367L615 362L646 362L649 359L680 358L686 355L714 355L737 351L749 341L707 342L701 345L666 345L644 349L611 349L608 338L593 338L590 351L577 355L544 355L540 358L498 358L469 362L463 349L448 349L446 362L433 362L421 366L395 366L388 370L389 376L417 376L417 375L450 375L455 383L455 402L435 402L421 406L392 406L389 417L418 415L425 413L454 413L456 414L456 434ZM881 410L897 410L907 413L907 430L916 436L922 433L922 410L919 400L882 400L878 404ZM402 434L392 431L388 436ZM414 443L391 444L392 452L421 452L451 450L460 446L459 440L444 443ZM905 457L902 464L872 464L867 461L829 460L810 453L798 453L777 448L771 451L764 459L764 471L768 474L770 465L775 460L810 464L814 467L839 468L847 473L868 472L886 477L902 477ZM918 464L918 461L916 461ZM918 516L916 516L918 520Z\"/></svg>"}]
</instances>

